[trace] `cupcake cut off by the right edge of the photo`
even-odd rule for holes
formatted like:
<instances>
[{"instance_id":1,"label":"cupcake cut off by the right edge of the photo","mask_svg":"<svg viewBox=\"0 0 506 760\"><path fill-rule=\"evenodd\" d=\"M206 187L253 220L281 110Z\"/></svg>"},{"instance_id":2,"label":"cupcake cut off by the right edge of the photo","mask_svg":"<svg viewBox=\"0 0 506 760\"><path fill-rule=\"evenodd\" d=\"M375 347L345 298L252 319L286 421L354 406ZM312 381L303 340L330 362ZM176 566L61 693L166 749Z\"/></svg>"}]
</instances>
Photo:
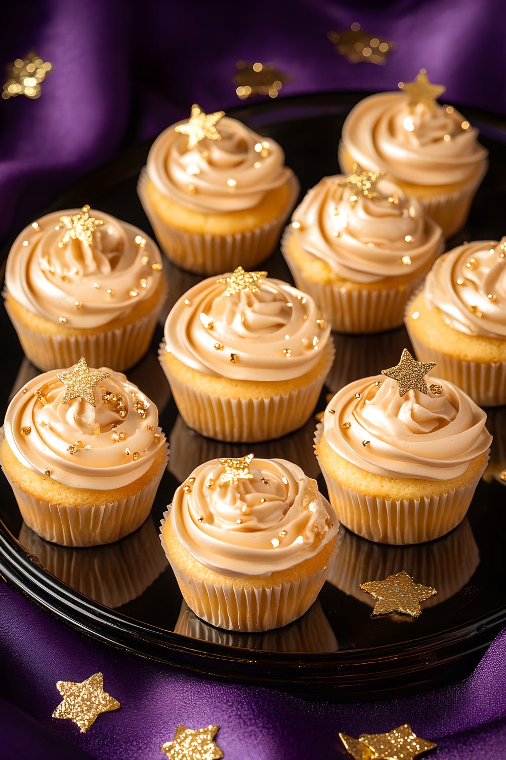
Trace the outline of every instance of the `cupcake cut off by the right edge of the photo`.
<instances>
[{"instance_id":1,"label":"cupcake cut off by the right edge of the photo","mask_svg":"<svg viewBox=\"0 0 506 760\"><path fill-rule=\"evenodd\" d=\"M446 253L410 302L416 356L484 407L506 404L506 237Z\"/></svg>"}]
</instances>

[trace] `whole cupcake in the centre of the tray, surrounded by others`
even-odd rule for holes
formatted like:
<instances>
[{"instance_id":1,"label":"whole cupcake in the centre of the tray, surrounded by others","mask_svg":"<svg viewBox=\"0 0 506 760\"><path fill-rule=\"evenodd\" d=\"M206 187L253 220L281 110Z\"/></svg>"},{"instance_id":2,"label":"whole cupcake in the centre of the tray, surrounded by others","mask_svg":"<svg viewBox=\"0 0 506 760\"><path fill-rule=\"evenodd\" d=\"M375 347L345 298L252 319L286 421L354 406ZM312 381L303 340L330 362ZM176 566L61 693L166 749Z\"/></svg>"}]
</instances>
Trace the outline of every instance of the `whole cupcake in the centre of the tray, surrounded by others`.
<instances>
[{"instance_id":1,"label":"whole cupcake in the centre of the tray, surrounded by others","mask_svg":"<svg viewBox=\"0 0 506 760\"><path fill-rule=\"evenodd\" d=\"M160 362L188 426L209 438L256 442L303 426L334 347L310 296L266 272L209 277L165 321Z\"/></svg>"}]
</instances>

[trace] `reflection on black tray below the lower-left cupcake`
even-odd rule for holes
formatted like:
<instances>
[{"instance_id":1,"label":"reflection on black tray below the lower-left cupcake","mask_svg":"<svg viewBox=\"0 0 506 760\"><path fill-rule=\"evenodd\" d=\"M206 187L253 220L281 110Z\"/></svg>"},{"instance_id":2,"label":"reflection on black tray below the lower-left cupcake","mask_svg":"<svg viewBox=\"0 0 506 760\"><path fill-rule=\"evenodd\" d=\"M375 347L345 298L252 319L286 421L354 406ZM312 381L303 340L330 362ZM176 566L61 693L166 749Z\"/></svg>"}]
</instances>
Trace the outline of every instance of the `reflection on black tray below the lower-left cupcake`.
<instances>
[{"instance_id":1,"label":"reflection on black tray below the lower-left cupcake","mask_svg":"<svg viewBox=\"0 0 506 760\"><path fill-rule=\"evenodd\" d=\"M107 546L58 546L37 536L25 523L18 540L56 578L113 609L139 597L167 567L150 517L135 533Z\"/></svg>"}]
</instances>

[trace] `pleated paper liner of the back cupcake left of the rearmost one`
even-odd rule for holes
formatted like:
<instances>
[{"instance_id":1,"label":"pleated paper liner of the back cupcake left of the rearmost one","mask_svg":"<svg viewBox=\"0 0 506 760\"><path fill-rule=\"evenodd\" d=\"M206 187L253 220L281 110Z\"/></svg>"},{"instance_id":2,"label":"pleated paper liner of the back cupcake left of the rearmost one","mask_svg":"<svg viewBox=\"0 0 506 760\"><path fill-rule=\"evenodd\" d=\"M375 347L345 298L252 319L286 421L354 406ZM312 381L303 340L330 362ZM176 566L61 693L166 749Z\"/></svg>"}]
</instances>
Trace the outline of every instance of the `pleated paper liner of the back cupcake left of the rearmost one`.
<instances>
[{"instance_id":1,"label":"pleated paper liner of the back cupcake left of the rearmost one","mask_svg":"<svg viewBox=\"0 0 506 760\"><path fill-rule=\"evenodd\" d=\"M189 233L165 222L146 198L146 167L140 173L137 193L146 217L155 232L160 248L169 261L181 269L197 274L222 274L241 266L252 269L274 251L281 230L288 218L299 192L295 176L291 179L291 198L286 211L280 217L244 233L212 235Z\"/></svg>"}]
</instances>

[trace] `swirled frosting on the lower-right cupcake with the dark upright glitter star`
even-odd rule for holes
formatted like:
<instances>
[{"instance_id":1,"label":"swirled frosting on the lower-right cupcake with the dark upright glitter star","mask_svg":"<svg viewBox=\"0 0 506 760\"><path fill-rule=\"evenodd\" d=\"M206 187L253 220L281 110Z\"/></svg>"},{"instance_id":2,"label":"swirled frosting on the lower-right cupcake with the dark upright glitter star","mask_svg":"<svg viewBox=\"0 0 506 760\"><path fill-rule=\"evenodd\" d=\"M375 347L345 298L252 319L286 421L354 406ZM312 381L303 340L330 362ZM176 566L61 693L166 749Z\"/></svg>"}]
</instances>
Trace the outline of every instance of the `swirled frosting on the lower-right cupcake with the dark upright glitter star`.
<instances>
[{"instance_id":1,"label":"swirled frosting on the lower-right cupcake with the dark upright glitter star","mask_svg":"<svg viewBox=\"0 0 506 760\"><path fill-rule=\"evenodd\" d=\"M398 382L385 375L346 385L325 410L325 440L342 458L375 475L459 477L492 442L486 413L448 380L429 375L431 383L442 385L442 394L412 388L401 397Z\"/></svg>"}]
</instances>

